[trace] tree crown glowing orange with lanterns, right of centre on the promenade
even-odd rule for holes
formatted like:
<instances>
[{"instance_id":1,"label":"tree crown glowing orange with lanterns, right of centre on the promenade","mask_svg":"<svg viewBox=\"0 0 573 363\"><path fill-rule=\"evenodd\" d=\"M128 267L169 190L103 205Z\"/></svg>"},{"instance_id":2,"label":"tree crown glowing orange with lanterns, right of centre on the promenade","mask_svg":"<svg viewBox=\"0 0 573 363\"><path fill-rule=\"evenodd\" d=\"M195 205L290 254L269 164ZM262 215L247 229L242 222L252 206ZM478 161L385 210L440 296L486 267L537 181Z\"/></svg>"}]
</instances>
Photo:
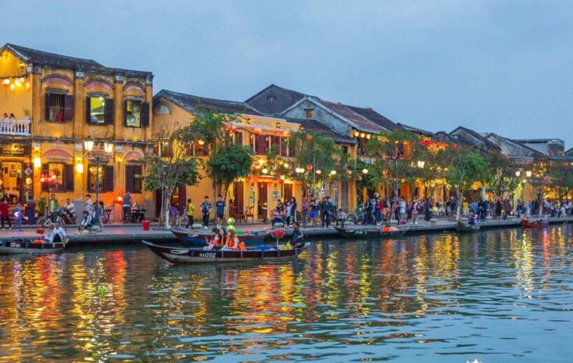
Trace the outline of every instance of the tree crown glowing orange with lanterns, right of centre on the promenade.
<instances>
[{"instance_id":1,"label":"tree crown glowing orange with lanterns, right of centre on the promenade","mask_svg":"<svg viewBox=\"0 0 573 363\"><path fill-rule=\"evenodd\" d=\"M418 135L396 129L365 143L366 153L376 157L373 169L382 170L381 181L391 185L393 195L398 195L402 182L416 180L418 140Z\"/></svg>"}]
</instances>

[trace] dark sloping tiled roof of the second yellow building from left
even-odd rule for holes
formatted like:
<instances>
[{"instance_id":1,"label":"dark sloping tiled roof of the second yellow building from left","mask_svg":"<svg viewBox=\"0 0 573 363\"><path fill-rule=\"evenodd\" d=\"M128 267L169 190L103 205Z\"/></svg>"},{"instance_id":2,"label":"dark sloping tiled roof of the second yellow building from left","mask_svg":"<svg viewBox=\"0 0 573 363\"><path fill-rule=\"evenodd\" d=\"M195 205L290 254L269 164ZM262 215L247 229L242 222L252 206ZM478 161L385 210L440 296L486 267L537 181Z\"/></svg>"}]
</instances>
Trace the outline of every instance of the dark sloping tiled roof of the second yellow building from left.
<instances>
[{"instance_id":1,"label":"dark sloping tiled roof of the second yellow building from left","mask_svg":"<svg viewBox=\"0 0 573 363\"><path fill-rule=\"evenodd\" d=\"M265 114L255 110L244 102L217 100L215 98L192 96L190 94L180 94L179 92L161 89L161 91L153 97L154 103L156 102L155 100L160 97L166 98L166 100L192 113L212 110L223 114L253 114L255 116L265 116Z\"/></svg>"}]
</instances>

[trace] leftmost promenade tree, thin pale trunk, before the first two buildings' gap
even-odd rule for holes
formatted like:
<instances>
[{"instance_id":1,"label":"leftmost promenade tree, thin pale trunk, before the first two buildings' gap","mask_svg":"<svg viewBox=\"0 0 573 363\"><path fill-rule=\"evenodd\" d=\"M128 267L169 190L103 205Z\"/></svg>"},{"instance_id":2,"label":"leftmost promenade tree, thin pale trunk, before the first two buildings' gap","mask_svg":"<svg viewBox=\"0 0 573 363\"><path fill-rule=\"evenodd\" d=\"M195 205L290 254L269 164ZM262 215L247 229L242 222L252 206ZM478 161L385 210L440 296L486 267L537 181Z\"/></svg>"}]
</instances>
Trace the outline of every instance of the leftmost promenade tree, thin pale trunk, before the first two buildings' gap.
<instances>
[{"instance_id":1,"label":"leftmost promenade tree, thin pale trunk, before the first two buildings' gap","mask_svg":"<svg viewBox=\"0 0 573 363\"><path fill-rule=\"evenodd\" d=\"M187 127L162 129L158 135L157 154L143 159L147 165L147 175L143 177L143 185L146 191L161 190L159 225L163 221L166 229L171 228L169 211L175 188L180 185L196 185L201 179L198 172L201 161L193 156L184 140Z\"/></svg>"}]
</instances>

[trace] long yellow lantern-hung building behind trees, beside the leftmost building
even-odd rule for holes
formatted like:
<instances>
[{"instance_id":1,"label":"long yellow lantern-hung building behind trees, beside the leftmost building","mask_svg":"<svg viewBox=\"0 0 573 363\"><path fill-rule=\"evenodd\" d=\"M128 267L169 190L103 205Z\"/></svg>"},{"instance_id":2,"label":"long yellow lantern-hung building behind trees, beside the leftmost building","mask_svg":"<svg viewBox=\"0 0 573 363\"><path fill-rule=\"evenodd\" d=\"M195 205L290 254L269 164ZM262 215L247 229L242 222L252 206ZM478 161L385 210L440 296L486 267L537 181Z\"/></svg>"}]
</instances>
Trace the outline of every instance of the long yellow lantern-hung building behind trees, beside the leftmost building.
<instances>
[{"instance_id":1,"label":"long yellow lantern-hung building behind trees, beside the leftmost building","mask_svg":"<svg viewBox=\"0 0 573 363\"><path fill-rule=\"evenodd\" d=\"M245 103L215 100L166 90L161 90L154 96L153 135L158 135L161 128L173 127L176 123L186 124L194 119L195 115L201 112L201 110L214 110L222 114L239 115L239 122L234 124L237 129L233 134L233 138L238 140L237 142L242 143L242 145L252 147L255 154L254 168L264 168L266 163L266 151L273 145L279 147L283 158L287 161L291 160L289 159L291 157L289 154L291 150L286 146L286 140L289 137L289 133L298 131L301 128L326 133L337 142L339 141L337 137L343 138L342 135L333 133L321 125L316 126L320 129L314 129L314 127L307 122L308 120L268 117ZM351 138L347 139L349 142L352 142ZM196 142L194 150L196 156L208 155L208 150L204 148L204 145L198 142ZM333 193L333 198L335 188L338 190L338 183L340 182L335 182L331 185L331 190L326 191L327 193ZM346 188L348 188L348 186L346 186ZM232 209L228 207L227 214L230 212L230 214L233 215L236 212L247 211L254 214L254 219L270 218L272 209L277 205L277 199L284 201L285 198L288 199L291 197L295 197L298 201L298 210L300 211L303 189L302 185L289 179L288 176L284 179L280 179L278 175L274 177L261 175L261 173L258 175L250 175L244 180L233 183L233 186L229 188L226 204L227 206L232 205ZM216 200L217 195L215 194L212 180L208 177L204 177L198 186L179 188L175 193L172 203L177 204L179 209L182 209L187 198L191 198L196 206L195 220L198 221L201 216L198 206L203 202L203 198L205 195L208 195L213 202ZM354 196L351 198L354 199ZM161 198L156 198L156 200L159 201ZM156 209L159 210L159 205Z\"/></svg>"}]
</instances>

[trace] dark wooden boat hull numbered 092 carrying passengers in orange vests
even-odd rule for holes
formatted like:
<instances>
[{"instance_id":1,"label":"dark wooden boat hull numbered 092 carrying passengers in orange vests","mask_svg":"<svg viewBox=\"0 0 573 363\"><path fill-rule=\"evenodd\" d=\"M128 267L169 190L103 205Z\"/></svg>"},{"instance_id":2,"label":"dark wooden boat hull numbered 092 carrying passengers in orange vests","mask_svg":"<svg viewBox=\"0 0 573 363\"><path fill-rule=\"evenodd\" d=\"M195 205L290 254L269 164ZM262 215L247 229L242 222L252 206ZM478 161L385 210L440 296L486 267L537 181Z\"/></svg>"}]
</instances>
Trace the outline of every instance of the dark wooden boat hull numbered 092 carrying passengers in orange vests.
<instances>
[{"instance_id":1,"label":"dark wooden boat hull numbered 092 carrying passengers in orange vests","mask_svg":"<svg viewBox=\"0 0 573 363\"><path fill-rule=\"evenodd\" d=\"M151 242L141 241L156 255L171 263L213 263L213 262L238 262L238 261L262 261L283 260L293 258L303 253L309 244L300 249L290 250L259 250L247 249L246 251L205 251L203 249L182 249L180 247L158 246Z\"/></svg>"}]
</instances>

